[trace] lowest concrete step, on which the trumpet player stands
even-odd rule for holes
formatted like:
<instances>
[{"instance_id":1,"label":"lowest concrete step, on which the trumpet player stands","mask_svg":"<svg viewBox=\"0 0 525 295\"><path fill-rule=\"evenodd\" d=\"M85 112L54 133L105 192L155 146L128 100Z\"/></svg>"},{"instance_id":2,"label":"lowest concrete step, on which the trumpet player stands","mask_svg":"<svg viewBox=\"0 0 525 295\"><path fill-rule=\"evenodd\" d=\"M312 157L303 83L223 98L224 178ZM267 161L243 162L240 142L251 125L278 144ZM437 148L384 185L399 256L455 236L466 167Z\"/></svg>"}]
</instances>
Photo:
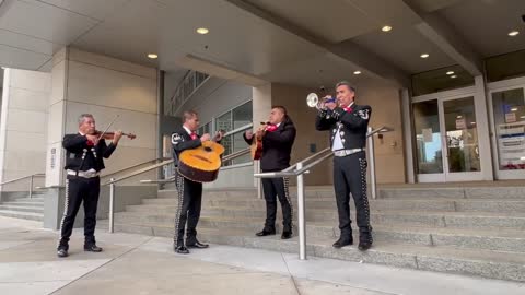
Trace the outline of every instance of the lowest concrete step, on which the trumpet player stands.
<instances>
[{"instance_id":1,"label":"lowest concrete step, on which the trumpet player stands","mask_svg":"<svg viewBox=\"0 0 525 295\"><path fill-rule=\"evenodd\" d=\"M107 222L101 222L107 227ZM173 227L155 224L115 224L117 232L173 237ZM298 237L281 240L279 236L255 237L254 232L243 229L199 228L201 240L232 246L298 252ZM355 246L335 249L331 238L310 238L307 253L316 257L362 261L427 271L439 271L478 275L489 279L525 282L525 255L490 250L455 249L406 244L382 243L366 251L358 251Z\"/></svg>"}]
</instances>

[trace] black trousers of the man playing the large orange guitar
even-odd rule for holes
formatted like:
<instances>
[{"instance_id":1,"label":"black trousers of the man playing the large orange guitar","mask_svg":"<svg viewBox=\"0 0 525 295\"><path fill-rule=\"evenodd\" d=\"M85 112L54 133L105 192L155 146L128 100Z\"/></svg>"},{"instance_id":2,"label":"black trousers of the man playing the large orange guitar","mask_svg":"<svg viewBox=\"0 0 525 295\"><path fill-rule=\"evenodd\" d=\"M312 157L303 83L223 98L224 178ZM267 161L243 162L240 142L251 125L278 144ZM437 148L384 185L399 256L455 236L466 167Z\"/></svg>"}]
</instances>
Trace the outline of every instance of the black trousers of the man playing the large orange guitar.
<instances>
[{"instance_id":1,"label":"black trousers of the man playing the large orange guitar","mask_svg":"<svg viewBox=\"0 0 525 295\"><path fill-rule=\"evenodd\" d=\"M202 184L184 178L180 174L175 175L175 186L178 192L178 206L175 213L174 243L177 246L184 244L184 232L187 223L186 245L192 245L197 240L197 224L200 219L202 203Z\"/></svg>"}]
</instances>

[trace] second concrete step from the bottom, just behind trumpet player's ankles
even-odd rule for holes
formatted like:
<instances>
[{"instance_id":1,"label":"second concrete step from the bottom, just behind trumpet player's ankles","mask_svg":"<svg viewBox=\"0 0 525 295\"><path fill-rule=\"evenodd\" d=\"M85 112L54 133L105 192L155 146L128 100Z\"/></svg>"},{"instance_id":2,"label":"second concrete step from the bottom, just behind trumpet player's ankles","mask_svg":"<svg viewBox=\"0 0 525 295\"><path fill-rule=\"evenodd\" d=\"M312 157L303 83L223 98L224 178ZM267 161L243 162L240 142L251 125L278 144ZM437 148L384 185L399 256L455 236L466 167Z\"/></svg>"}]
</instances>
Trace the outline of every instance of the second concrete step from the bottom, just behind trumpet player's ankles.
<instances>
[{"instance_id":1,"label":"second concrete step from the bottom, just behind trumpet player's ankles","mask_svg":"<svg viewBox=\"0 0 525 295\"><path fill-rule=\"evenodd\" d=\"M171 215L137 215L118 213L115 217L120 224L155 224L159 227L172 227L175 219ZM242 229L250 233L262 228L264 219L228 219L218 216L201 216L199 228L220 231ZM294 221L296 225L296 221ZM464 229L464 228L435 228L435 227L407 227L405 224L382 224L374 226L374 238L380 241L404 243L421 246L455 246L460 248L487 249L499 251L525 252L525 233L515 229ZM281 233L280 219L277 232ZM298 232L294 226L295 233ZM307 223L307 235L322 238L338 238L337 222ZM353 231L358 239L359 231ZM173 234L173 233L172 233Z\"/></svg>"}]
</instances>

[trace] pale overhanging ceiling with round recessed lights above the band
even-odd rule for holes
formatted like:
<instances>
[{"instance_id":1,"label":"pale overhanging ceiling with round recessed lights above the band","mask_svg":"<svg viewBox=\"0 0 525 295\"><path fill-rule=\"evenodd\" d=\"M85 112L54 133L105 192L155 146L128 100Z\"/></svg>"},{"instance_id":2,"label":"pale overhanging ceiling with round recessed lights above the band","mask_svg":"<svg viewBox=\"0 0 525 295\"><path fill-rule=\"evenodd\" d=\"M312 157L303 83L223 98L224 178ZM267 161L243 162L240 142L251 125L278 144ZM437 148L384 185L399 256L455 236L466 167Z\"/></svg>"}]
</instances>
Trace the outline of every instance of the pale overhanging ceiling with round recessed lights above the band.
<instances>
[{"instance_id":1,"label":"pale overhanging ceiling with round recessed lights above the band","mask_svg":"<svg viewBox=\"0 0 525 295\"><path fill-rule=\"evenodd\" d=\"M4 0L0 64L49 71L71 45L167 71L191 55L248 79L317 86L458 63L416 25L432 13L481 56L525 49L525 0ZM416 5L422 12L412 9ZM382 33L389 24L394 30ZM210 34L198 35L200 26ZM522 30L515 38L506 33ZM445 36L446 37L446 36ZM350 50L352 44L364 50ZM339 50L332 48L339 46ZM345 52L348 48L348 55ZM429 59L419 58L422 52ZM149 60L158 52L159 60ZM369 61L384 61L368 67ZM377 63L377 62L375 62ZM359 66L358 66L359 64ZM359 69L360 76L351 73Z\"/></svg>"}]
</instances>

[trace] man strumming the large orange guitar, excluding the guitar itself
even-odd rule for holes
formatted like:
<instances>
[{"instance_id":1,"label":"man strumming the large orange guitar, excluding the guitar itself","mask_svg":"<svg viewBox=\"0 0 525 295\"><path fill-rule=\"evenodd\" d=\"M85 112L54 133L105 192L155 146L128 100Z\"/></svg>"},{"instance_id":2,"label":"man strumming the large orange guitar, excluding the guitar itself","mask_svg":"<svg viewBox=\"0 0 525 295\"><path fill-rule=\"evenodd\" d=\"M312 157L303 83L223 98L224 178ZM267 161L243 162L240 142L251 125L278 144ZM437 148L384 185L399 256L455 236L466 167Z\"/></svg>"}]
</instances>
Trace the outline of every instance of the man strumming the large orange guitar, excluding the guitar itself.
<instances>
[{"instance_id":1,"label":"man strumming the large orange guitar, excluding the guitar itself","mask_svg":"<svg viewBox=\"0 0 525 295\"><path fill-rule=\"evenodd\" d=\"M211 140L209 133L198 135L199 117L194 110L186 110L183 114L183 126L172 134L173 158L175 167L178 166L178 158L182 152L198 148L202 142ZM218 132L213 138L220 142L222 132ZM202 184L189 180L178 170L175 174L175 186L178 191L178 208L175 213L175 234L173 237L173 250L177 253L189 253L188 248L203 249L208 244L200 243L197 239L197 224L200 219L200 209L202 202ZM186 240L184 232L187 222Z\"/></svg>"}]
</instances>

